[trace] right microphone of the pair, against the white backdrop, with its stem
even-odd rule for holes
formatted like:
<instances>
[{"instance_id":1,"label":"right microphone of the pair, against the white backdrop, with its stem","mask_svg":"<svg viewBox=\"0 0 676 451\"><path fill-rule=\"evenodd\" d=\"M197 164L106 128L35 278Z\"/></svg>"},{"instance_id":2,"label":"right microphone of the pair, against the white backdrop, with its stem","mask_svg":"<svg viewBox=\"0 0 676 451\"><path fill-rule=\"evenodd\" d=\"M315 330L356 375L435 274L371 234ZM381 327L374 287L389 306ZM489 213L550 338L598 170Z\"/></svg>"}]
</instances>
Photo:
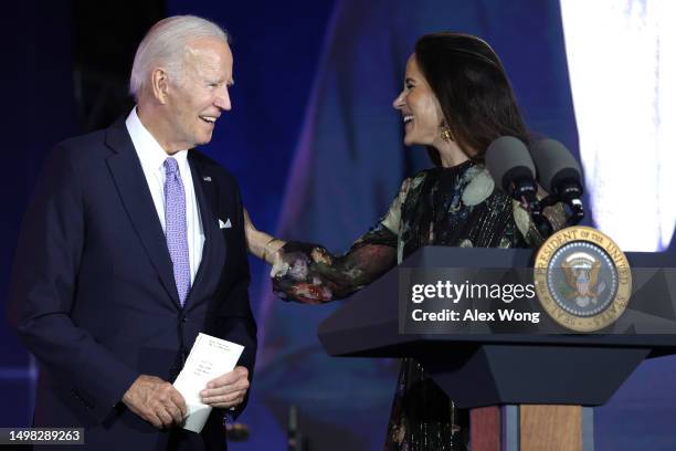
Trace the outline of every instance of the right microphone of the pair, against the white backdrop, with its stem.
<instances>
[{"instance_id":1,"label":"right microphone of the pair, against the white backdrop, with its stem","mask_svg":"<svg viewBox=\"0 0 676 451\"><path fill-rule=\"evenodd\" d=\"M570 209L568 226L578 224L584 218L582 206L582 170L580 165L561 143L554 139L541 139L530 147L530 155L538 167L538 181ZM553 203L547 199L543 203Z\"/></svg>"}]
</instances>

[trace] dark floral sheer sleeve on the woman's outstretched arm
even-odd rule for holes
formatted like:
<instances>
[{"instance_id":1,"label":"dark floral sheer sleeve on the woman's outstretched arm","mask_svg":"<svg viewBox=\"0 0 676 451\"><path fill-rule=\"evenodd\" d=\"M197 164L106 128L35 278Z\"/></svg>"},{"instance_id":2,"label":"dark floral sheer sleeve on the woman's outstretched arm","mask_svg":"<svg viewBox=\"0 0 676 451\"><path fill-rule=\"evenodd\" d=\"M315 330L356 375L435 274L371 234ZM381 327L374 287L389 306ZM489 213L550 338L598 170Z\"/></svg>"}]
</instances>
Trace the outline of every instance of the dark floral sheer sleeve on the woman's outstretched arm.
<instances>
[{"instance_id":1,"label":"dark floral sheer sleeve on the woman's outstretched arm","mask_svg":"<svg viewBox=\"0 0 676 451\"><path fill-rule=\"evenodd\" d=\"M409 185L404 180L388 212L344 254L334 255L319 244L287 242L271 273L273 292L286 301L318 304L347 297L393 268Z\"/></svg>"}]
</instances>

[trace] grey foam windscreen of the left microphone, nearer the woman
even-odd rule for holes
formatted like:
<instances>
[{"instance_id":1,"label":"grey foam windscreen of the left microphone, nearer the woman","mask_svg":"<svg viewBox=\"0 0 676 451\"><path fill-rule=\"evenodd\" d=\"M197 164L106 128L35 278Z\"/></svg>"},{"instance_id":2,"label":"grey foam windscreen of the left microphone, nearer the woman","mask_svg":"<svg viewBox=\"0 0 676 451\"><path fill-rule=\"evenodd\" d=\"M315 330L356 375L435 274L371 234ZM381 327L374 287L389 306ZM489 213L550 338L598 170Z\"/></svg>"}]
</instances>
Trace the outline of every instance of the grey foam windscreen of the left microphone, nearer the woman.
<instances>
[{"instance_id":1,"label":"grey foam windscreen of the left microphone, nearer the woman","mask_svg":"<svg viewBox=\"0 0 676 451\"><path fill-rule=\"evenodd\" d=\"M495 182L509 193L517 178L535 180L535 165L526 145L513 136L501 136L486 149L486 169Z\"/></svg>"}]
</instances>

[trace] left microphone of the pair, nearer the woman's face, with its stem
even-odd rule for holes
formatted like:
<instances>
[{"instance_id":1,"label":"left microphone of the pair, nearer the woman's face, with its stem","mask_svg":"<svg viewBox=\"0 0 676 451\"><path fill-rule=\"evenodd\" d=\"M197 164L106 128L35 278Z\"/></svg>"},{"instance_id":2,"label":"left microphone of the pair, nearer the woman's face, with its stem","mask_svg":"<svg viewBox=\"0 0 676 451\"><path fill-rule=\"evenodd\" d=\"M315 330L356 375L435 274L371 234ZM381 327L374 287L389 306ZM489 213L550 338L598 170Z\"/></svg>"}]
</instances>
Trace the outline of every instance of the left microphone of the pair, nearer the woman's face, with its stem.
<instances>
[{"instance_id":1,"label":"left microphone of the pair, nearer the woman's face, with its stem","mask_svg":"<svg viewBox=\"0 0 676 451\"><path fill-rule=\"evenodd\" d=\"M553 229L542 214L542 204L537 197L535 164L526 145L513 136L497 138L486 149L486 169L504 192L520 201L530 212L540 234L549 237Z\"/></svg>"}]
</instances>

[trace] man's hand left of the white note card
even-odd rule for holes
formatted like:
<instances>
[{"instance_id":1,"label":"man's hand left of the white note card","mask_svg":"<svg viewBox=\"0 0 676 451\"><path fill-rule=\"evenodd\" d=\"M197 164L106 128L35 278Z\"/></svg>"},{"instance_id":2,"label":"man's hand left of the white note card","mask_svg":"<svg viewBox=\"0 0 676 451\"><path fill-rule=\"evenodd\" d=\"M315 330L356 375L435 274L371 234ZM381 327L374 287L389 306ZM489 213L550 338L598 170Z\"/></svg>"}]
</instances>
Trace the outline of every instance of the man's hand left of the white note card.
<instances>
[{"instance_id":1,"label":"man's hand left of the white note card","mask_svg":"<svg viewBox=\"0 0 676 451\"><path fill-rule=\"evenodd\" d=\"M156 376L140 375L123 397L123 402L156 428L180 424L188 415L182 395Z\"/></svg>"}]
</instances>

